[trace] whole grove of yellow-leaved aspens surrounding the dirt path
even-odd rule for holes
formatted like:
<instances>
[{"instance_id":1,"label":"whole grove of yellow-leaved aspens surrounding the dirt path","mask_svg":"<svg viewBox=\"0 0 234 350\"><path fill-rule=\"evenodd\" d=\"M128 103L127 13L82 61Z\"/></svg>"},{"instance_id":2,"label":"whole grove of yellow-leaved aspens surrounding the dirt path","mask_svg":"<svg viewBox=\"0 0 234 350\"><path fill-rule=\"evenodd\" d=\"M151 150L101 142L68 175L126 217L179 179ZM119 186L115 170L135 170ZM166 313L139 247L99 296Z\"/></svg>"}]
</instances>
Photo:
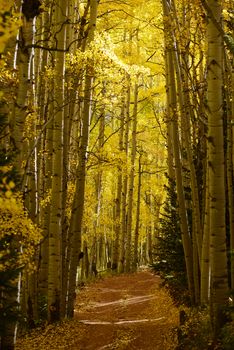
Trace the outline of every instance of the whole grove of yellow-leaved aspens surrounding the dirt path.
<instances>
[{"instance_id":1,"label":"whole grove of yellow-leaved aspens surrounding the dirt path","mask_svg":"<svg viewBox=\"0 0 234 350\"><path fill-rule=\"evenodd\" d=\"M234 289L233 33L232 0L1 0L3 349L11 312L71 318L79 283L152 264L171 213L190 304L209 305L218 336Z\"/></svg>"}]
</instances>

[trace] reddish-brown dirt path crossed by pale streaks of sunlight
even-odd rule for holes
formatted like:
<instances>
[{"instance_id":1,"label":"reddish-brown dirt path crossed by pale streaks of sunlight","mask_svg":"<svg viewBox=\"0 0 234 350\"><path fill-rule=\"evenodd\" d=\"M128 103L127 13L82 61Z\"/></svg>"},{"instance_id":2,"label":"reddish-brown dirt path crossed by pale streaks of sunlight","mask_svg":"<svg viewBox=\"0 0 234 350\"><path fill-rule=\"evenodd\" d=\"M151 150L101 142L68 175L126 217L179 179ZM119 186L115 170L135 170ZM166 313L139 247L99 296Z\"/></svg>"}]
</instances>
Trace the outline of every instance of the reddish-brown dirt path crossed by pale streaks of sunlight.
<instances>
[{"instance_id":1,"label":"reddish-brown dirt path crossed by pale streaks of sunlight","mask_svg":"<svg viewBox=\"0 0 234 350\"><path fill-rule=\"evenodd\" d=\"M86 329L80 349L173 349L178 313L159 278L148 271L114 276L87 287L76 318Z\"/></svg>"}]
</instances>

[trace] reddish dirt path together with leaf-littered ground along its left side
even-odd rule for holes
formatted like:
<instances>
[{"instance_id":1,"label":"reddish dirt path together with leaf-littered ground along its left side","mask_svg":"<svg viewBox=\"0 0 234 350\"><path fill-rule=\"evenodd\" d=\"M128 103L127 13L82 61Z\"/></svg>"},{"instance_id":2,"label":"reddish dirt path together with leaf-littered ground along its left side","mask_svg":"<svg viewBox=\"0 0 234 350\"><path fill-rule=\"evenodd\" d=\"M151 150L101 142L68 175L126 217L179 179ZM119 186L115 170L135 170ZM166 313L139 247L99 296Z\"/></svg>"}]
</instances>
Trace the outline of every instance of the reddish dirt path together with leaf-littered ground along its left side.
<instances>
[{"instance_id":1,"label":"reddish dirt path together with leaf-littered ground along its left side","mask_svg":"<svg viewBox=\"0 0 234 350\"><path fill-rule=\"evenodd\" d=\"M77 296L72 321L19 339L18 350L175 349L178 309L150 271L100 278Z\"/></svg>"}]
</instances>

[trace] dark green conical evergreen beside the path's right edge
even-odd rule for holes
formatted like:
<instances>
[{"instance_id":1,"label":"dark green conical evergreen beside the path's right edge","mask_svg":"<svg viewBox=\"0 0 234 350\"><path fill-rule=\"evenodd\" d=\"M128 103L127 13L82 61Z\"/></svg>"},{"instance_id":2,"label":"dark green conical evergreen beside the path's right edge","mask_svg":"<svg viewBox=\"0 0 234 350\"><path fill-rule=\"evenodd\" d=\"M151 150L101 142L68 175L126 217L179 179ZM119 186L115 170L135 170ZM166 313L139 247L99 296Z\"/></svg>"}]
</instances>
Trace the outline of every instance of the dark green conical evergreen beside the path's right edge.
<instances>
[{"instance_id":1,"label":"dark green conical evergreen beside the path's right edge","mask_svg":"<svg viewBox=\"0 0 234 350\"><path fill-rule=\"evenodd\" d=\"M187 303L187 277L175 182L170 179L168 182L169 185L165 186L167 198L159 222L159 234L156 237L157 245L151 268L162 277L162 284L168 288L176 302Z\"/></svg>"}]
</instances>

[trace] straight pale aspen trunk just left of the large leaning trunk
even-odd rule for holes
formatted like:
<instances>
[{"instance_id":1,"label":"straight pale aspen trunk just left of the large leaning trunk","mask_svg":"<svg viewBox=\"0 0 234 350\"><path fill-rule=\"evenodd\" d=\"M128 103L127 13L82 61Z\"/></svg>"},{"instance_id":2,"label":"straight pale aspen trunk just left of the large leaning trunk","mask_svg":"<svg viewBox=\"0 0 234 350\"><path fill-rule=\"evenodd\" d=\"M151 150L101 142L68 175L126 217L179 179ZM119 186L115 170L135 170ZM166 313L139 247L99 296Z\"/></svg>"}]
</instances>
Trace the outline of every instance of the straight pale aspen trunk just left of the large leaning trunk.
<instances>
[{"instance_id":1,"label":"straight pale aspen trunk just left of the large leaning trunk","mask_svg":"<svg viewBox=\"0 0 234 350\"><path fill-rule=\"evenodd\" d=\"M64 50L66 38L66 2L58 0L55 6L57 51L55 54L54 116L52 188L49 225L49 267L48 267L48 321L60 319L61 303L61 228L62 228L62 159L64 121Z\"/></svg>"}]
</instances>

